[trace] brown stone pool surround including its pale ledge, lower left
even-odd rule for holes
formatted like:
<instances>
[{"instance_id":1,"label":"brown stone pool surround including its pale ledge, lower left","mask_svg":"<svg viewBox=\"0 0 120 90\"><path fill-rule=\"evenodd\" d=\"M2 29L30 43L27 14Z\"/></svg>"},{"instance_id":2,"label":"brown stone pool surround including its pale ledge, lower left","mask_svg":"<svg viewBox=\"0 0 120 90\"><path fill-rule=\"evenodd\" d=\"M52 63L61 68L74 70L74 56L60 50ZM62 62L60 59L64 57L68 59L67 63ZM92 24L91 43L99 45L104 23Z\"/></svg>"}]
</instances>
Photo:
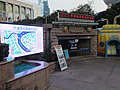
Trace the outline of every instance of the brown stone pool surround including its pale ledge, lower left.
<instances>
[{"instance_id":1,"label":"brown stone pool surround including its pale ledge, lower left","mask_svg":"<svg viewBox=\"0 0 120 90\"><path fill-rule=\"evenodd\" d=\"M39 66L14 74L14 60L0 62L0 90L46 90L49 86L49 64L34 62ZM18 63L18 62L17 62Z\"/></svg>"}]
</instances>

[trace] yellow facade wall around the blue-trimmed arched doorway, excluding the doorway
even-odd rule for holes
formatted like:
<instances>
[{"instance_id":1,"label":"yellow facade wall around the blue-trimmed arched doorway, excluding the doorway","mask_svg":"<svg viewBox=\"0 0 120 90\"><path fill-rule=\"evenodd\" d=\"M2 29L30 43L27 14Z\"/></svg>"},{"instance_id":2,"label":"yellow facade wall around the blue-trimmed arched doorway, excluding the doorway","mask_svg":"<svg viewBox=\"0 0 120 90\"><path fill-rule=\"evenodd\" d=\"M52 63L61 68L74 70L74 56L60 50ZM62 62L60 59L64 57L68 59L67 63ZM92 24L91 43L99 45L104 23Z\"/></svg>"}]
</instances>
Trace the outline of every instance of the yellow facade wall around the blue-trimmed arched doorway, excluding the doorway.
<instances>
[{"instance_id":1,"label":"yellow facade wall around the blue-trimmed arched doorway, excluding the doorway","mask_svg":"<svg viewBox=\"0 0 120 90\"><path fill-rule=\"evenodd\" d=\"M120 40L120 25L104 25L98 32L98 55L105 55L106 42L113 39ZM100 42L103 42L104 46L100 46Z\"/></svg>"}]
</instances>

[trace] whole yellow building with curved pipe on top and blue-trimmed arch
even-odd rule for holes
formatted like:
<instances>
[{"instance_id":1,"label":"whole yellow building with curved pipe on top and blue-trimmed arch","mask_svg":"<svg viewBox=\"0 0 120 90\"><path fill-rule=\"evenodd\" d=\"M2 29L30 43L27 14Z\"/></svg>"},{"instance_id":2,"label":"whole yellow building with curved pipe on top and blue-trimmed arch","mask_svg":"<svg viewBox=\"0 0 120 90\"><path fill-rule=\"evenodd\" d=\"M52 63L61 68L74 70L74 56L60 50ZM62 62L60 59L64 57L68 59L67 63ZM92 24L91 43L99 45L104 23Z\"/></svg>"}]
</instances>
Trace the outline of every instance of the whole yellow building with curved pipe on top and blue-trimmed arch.
<instances>
[{"instance_id":1,"label":"whole yellow building with curved pipe on top and blue-trimmed arch","mask_svg":"<svg viewBox=\"0 0 120 90\"><path fill-rule=\"evenodd\" d=\"M106 24L98 31L98 55L120 56L120 25L117 24L116 16L114 24Z\"/></svg>"}]
</instances>

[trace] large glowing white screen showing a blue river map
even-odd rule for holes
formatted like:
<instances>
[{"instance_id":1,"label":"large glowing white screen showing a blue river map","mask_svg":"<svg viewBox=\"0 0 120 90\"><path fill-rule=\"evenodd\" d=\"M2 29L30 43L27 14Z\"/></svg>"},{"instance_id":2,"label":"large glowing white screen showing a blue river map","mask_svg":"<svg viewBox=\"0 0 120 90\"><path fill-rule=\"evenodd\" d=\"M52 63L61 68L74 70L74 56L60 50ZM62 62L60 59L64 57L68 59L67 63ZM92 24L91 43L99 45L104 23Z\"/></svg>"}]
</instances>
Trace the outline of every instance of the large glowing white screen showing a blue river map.
<instances>
[{"instance_id":1,"label":"large glowing white screen showing a blue river map","mask_svg":"<svg viewBox=\"0 0 120 90\"><path fill-rule=\"evenodd\" d=\"M1 43L9 44L9 56L43 52L43 27L0 24Z\"/></svg>"}]
</instances>

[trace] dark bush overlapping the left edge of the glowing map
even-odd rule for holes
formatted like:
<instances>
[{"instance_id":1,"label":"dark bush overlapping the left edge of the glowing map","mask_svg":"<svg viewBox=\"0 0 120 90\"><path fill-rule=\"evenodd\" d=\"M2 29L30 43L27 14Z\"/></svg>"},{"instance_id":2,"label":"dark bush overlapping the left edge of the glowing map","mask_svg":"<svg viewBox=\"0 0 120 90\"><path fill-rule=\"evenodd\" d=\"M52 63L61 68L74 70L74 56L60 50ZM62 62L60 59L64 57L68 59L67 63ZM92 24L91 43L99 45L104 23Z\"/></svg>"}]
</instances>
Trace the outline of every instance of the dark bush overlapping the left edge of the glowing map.
<instances>
[{"instance_id":1,"label":"dark bush overlapping the left edge of the glowing map","mask_svg":"<svg viewBox=\"0 0 120 90\"><path fill-rule=\"evenodd\" d=\"M0 61L3 61L5 57L8 57L9 45L5 43L0 43Z\"/></svg>"}]
</instances>

